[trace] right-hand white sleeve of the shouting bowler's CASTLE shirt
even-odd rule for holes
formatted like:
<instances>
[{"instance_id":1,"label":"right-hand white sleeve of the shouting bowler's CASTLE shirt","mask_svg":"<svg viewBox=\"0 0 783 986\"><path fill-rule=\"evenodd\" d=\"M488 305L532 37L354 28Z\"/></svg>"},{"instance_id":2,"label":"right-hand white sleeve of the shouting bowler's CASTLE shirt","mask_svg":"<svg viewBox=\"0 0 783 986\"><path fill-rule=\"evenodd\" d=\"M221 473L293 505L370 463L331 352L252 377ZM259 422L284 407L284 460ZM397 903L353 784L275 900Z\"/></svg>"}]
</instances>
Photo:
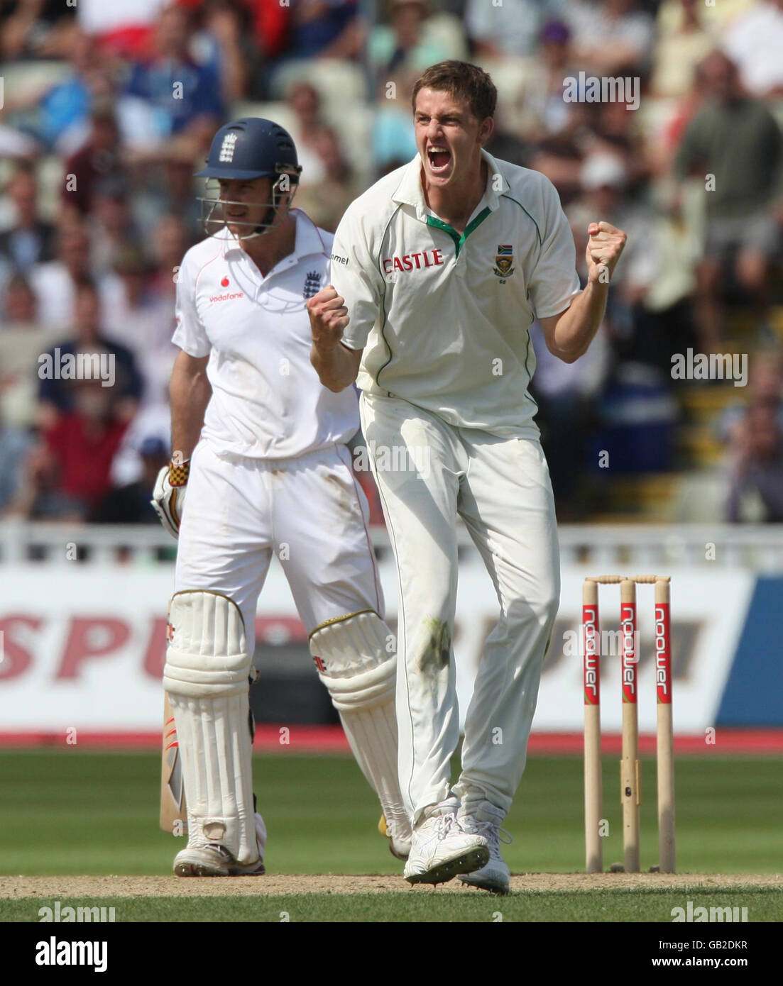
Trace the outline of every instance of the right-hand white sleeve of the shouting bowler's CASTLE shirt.
<instances>
[{"instance_id":1,"label":"right-hand white sleeve of the shouting bowler's CASTLE shirt","mask_svg":"<svg viewBox=\"0 0 783 986\"><path fill-rule=\"evenodd\" d=\"M559 315L579 294L576 246L554 185L546 182L541 248L528 285L535 317Z\"/></svg>"}]
</instances>

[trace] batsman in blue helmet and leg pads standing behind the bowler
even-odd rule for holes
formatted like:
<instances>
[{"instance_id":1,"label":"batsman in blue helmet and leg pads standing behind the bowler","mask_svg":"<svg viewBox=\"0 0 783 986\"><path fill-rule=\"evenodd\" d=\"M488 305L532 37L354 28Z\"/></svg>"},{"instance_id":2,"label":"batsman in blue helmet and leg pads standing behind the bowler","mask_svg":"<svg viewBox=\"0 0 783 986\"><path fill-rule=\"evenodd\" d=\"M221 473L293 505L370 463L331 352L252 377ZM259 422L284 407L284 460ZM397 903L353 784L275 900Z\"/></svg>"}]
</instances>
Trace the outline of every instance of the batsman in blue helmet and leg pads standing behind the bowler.
<instances>
[{"instance_id":1,"label":"batsman in blue helmet and leg pads standing behind the bowler","mask_svg":"<svg viewBox=\"0 0 783 986\"><path fill-rule=\"evenodd\" d=\"M271 120L218 130L198 173L214 190L201 200L209 235L178 272L174 454L153 503L179 540L164 669L187 803L179 877L264 873L248 692L273 553L381 801L391 851L404 859L409 848L393 638L345 445L359 427L358 398L322 387L310 362L305 304L326 283L332 238L291 208L301 170Z\"/></svg>"}]
</instances>

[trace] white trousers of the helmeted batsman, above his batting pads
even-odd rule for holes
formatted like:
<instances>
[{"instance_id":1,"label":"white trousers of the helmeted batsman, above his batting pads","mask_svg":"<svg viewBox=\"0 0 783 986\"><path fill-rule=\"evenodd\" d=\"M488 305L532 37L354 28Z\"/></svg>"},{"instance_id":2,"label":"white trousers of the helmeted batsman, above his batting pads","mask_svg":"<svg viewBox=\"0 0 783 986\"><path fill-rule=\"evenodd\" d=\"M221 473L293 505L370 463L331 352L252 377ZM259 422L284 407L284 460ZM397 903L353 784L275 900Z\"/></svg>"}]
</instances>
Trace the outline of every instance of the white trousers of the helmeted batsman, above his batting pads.
<instances>
[{"instance_id":1,"label":"white trousers of the helmeted batsman, above his batting pads","mask_svg":"<svg viewBox=\"0 0 783 986\"><path fill-rule=\"evenodd\" d=\"M190 458L175 592L204 589L234 599L250 654L272 552L308 634L361 609L383 618L369 513L345 446L262 459L218 454L202 439Z\"/></svg>"}]
</instances>

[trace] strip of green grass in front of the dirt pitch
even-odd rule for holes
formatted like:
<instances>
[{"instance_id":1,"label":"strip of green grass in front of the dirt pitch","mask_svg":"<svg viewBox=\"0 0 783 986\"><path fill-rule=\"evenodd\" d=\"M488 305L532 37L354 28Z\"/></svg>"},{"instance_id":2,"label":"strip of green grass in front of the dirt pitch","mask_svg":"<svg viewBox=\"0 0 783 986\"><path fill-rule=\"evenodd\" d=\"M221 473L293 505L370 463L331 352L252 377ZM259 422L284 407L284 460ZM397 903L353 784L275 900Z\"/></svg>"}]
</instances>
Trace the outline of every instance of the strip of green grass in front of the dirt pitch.
<instances>
[{"instance_id":1,"label":"strip of green grass in front of the dirt pitch","mask_svg":"<svg viewBox=\"0 0 783 986\"><path fill-rule=\"evenodd\" d=\"M783 921L783 891L738 890L595 890L512 893L449 893L442 890L268 897L69 898L61 906L113 907L116 922L671 922L672 909L747 907L748 922ZM0 899L0 921L37 922L38 909L53 909L49 898ZM109 912L107 911L107 914ZM46 925L52 933L55 925ZM72 927L69 925L68 927ZM84 927L82 925L82 927ZM730 926L736 927L736 926Z\"/></svg>"}]
</instances>

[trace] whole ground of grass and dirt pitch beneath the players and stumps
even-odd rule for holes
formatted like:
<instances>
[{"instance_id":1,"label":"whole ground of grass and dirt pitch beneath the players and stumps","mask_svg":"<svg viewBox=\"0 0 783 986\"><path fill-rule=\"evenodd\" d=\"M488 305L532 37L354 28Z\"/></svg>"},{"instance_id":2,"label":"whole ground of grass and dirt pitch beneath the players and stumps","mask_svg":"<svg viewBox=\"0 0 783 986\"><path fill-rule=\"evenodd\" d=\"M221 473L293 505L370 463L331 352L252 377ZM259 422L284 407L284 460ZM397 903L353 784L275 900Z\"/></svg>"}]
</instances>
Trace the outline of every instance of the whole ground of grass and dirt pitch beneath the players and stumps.
<instances>
[{"instance_id":1,"label":"whole ground of grass and dirt pitch beneath the players and stumps","mask_svg":"<svg viewBox=\"0 0 783 986\"><path fill-rule=\"evenodd\" d=\"M674 886L679 877L575 876L584 867L582 761L532 758L504 855L513 873L551 876L515 878L506 897L457 881L409 889L348 756L256 756L270 876L177 880L171 865L184 842L158 827L159 770L155 753L0 753L0 921L37 922L55 900L114 907L117 922L671 922L688 900L783 921L781 884L760 876L783 874L783 763L774 759L678 758L677 871L705 876ZM604 783L608 867L622 858L614 758L605 758ZM654 760L644 763L642 791L647 870L657 863ZM323 874L381 876L315 876Z\"/></svg>"}]
</instances>

